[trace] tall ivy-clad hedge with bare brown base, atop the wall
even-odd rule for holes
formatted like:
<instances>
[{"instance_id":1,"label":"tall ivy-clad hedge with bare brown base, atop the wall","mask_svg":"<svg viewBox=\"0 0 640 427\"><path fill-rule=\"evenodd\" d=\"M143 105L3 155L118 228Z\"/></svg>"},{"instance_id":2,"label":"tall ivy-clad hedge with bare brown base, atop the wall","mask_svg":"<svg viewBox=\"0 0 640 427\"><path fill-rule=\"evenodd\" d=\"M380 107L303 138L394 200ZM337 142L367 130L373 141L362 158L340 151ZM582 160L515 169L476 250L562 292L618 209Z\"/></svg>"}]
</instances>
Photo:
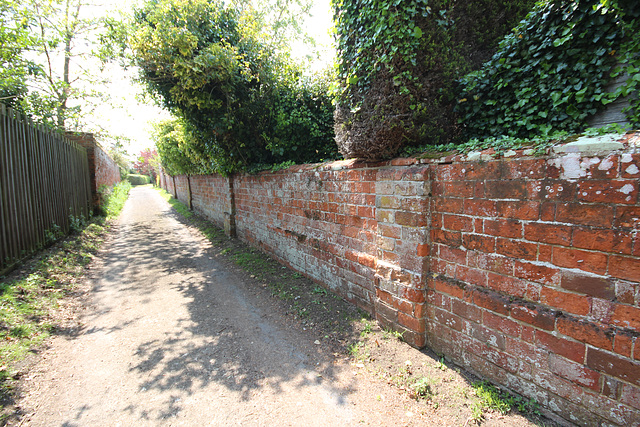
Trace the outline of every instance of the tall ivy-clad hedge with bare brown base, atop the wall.
<instances>
[{"instance_id":1,"label":"tall ivy-clad hedge with bare brown base, atop the wall","mask_svg":"<svg viewBox=\"0 0 640 427\"><path fill-rule=\"evenodd\" d=\"M334 0L336 138L346 157L455 140L455 79L488 59L533 0Z\"/></svg>"}]
</instances>

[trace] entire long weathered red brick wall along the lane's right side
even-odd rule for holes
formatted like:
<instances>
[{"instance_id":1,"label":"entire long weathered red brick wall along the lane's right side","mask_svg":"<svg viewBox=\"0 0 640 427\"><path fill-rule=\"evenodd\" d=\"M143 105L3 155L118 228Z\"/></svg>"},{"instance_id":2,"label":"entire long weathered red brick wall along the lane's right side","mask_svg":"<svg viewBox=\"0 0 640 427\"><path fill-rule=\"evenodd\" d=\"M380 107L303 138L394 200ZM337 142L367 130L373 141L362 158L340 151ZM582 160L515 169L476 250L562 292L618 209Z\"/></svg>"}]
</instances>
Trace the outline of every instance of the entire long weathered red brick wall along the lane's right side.
<instances>
[{"instance_id":1,"label":"entire long weathered red brick wall along the lane's right side","mask_svg":"<svg viewBox=\"0 0 640 427\"><path fill-rule=\"evenodd\" d=\"M344 161L176 184L411 344L566 420L635 425L639 141L600 156Z\"/></svg>"}]
</instances>

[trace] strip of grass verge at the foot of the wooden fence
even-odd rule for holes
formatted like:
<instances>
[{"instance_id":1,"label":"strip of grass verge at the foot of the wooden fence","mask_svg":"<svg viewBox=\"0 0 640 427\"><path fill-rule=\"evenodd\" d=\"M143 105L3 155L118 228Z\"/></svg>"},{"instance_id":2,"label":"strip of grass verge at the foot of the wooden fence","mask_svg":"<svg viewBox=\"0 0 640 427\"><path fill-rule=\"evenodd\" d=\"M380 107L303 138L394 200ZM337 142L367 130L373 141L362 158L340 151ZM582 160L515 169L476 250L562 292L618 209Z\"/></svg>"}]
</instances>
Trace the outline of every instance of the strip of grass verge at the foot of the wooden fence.
<instances>
[{"instance_id":1,"label":"strip of grass verge at the foot of the wooden fence","mask_svg":"<svg viewBox=\"0 0 640 427\"><path fill-rule=\"evenodd\" d=\"M106 217L88 223L78 219L73 236L59 240L9 278L0 277L0 411L2 402L13 396L16 366L55 333L61 299L76 289L104 241L108 220L122 210L130 188L124 183L106 194Z\"/></svg>"}]
</instances>

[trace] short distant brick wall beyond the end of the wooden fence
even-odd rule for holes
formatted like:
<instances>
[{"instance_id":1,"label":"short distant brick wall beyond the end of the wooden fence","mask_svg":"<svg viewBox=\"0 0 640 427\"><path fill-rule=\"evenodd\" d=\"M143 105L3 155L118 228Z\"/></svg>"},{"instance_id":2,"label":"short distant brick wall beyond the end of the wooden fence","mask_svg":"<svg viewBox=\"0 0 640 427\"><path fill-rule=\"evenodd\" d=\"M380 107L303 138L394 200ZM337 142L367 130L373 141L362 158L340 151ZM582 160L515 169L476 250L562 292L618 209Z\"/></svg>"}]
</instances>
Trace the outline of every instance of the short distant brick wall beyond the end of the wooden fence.
<instances>
[{"instance_id":1,"label":"short distant brick wall beyond the end of the wooden fence","mask_svg":"<svg viewBox=\"0 0 640 427\"><path fill-rule=\"evenodd\" d=\"M96 207L100 204L100 188L111 188L120 182L120 167L98 144L93 134L69 132L66 136L87 150L92 205Z\"/></svg>"}]
</instances>

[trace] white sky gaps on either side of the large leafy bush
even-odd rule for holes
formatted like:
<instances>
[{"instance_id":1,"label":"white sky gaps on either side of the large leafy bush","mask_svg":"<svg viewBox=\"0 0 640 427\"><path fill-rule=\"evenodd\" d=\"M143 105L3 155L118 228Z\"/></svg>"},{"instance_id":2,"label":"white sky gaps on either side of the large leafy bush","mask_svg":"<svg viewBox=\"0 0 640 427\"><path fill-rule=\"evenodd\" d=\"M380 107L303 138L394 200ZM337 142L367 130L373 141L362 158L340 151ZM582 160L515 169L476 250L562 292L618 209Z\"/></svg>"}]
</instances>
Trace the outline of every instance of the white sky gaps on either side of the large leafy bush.
<instances>
[{"instance_id":1,"label":"white sky gaps on either side of the large leafy bush","mask_svg":"<svg viewBox=\"0 0 640 427\"><path fill-rule=\"evenodd\" d=\"M309 17L303 28L316 40L321 59L311 68L321 69L333 61L332 26L330 0L315 0ZM119 3L120 5L122 3ZM294 56L304 58L309 55L309 49L303 43L295 43L292 46ZM106 88L110 95L109 103L98 107L92 116L92 121L112 135L122 135L130 138L131 142L127 151L132 159L138 157L146 148L153 148L150 137L152 123L167 119L170 114L159 106L138 101L143 92L142 87L134 82L136 71L134 69L123 70L118 65L112 65L107 69L107 75L111 80ZM108 148L108 147L105 147Z\"/></svg>"}]
</instances>

